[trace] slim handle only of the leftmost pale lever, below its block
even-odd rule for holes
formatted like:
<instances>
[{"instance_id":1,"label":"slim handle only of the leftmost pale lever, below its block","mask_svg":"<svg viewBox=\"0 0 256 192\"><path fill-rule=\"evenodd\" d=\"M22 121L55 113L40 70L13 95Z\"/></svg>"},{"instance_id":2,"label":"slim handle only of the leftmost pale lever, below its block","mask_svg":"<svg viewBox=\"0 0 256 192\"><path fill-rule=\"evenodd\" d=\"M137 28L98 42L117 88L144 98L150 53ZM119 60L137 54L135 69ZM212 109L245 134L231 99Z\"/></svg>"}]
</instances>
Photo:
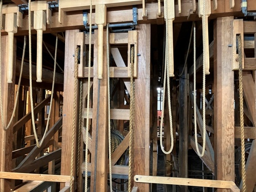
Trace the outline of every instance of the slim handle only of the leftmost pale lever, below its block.
<instances>
[{"instance_id":1,"label":"slim handle only of the leftmost pale lever, below its block","mask_svg":"<svg viewBox=\"0 0 256 192\"><path fill-rule=\"evenodd\" d=\"M7 83L12 83L13 75L13 32L8 32L8 69L7 69Z\"/></svg>"}]
</instances>

